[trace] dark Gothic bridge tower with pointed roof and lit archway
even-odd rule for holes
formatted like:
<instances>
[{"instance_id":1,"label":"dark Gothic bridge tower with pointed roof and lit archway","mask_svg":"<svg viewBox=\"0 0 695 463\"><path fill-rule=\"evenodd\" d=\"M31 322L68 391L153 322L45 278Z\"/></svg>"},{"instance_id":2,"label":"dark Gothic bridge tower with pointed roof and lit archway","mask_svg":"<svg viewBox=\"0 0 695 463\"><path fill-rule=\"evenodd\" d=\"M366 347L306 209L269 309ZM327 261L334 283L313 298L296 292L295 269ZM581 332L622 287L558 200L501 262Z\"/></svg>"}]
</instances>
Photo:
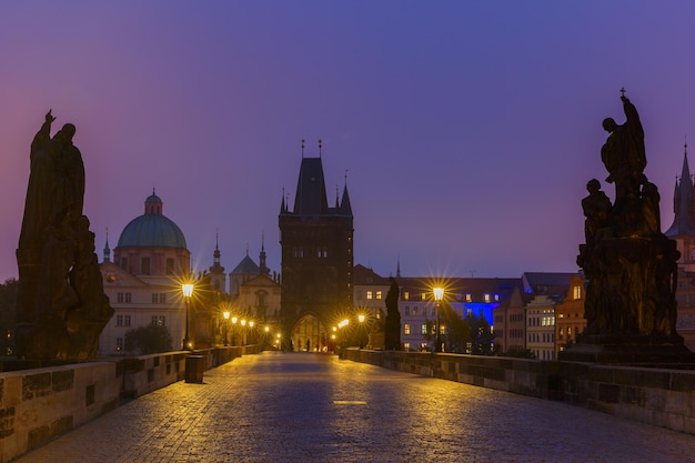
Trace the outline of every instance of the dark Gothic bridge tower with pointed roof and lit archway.
<instances>
[{"instance_id":1,"label":"dark Gothic bridge tower with pointed roof and lit archway","mask_svg":"<svg viewBox=\"0 0 695 463\"><path fill-rule=\"evenodd\" d=\"M346 184L329 207L321 157L302 158L294 207L283 197L279 227L284 331L292 349L322 350L353 310L354 230Z\"/></svg>"}]
</instances>

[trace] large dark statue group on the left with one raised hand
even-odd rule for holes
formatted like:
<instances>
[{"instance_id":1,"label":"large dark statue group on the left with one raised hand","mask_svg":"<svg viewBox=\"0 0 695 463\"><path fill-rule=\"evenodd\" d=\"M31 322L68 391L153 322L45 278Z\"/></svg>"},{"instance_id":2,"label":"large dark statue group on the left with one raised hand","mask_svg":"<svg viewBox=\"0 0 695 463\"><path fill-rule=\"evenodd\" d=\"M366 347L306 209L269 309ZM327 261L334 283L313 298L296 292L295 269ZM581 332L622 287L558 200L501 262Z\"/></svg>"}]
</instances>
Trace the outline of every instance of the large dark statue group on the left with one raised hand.
<instances>
[{"instance_id":1,"label":"large dark statue group on the left with one raised hand","mask_svg":"<svg viewBox=\"0 0 695 463\"><path fill-rule=\"evenodd\" d=\"M84 165L67 123L53 138L51 111L31 143L31 171L17 250L19 358L84 360L113 310L103 293L94 234L82 215Z\"/></svg>"}]
</instances>

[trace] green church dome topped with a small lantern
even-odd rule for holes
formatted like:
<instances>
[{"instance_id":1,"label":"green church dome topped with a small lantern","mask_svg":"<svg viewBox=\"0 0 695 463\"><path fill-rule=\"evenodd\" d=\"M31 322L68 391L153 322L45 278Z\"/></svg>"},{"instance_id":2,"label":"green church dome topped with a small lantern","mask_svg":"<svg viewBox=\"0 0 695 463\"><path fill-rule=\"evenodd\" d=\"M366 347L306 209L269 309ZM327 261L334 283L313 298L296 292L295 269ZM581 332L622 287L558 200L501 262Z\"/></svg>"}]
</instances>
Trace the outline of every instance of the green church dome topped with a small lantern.
<instances>
[{"instance_id":1,"label":"green church dome topped with a small lantern","mask_svg":"<svg viewBox=\"0 0 695 463\"><path fill-rule=\"evenodd\" d=\"M162 214L162 200L154 192L144 201L144 214L131 220L121 232L118 248L187 249L183 232Z\"/></svg>"}]
</instances>

